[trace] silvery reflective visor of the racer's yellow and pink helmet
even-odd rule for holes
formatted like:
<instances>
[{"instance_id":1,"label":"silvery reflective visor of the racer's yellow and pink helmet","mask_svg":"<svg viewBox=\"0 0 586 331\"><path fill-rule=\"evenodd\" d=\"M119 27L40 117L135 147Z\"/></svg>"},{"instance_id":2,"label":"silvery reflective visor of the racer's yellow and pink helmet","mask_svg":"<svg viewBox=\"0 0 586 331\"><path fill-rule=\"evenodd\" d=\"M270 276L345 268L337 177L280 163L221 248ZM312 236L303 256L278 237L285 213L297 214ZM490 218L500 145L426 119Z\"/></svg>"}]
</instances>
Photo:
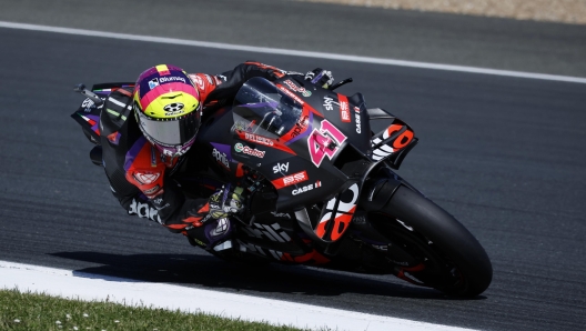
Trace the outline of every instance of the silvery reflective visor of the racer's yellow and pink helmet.
<instances>
[{"instance_id":1,"label":"silvery reflective visor of the racer's yellow and pink helmet","mask_svg":"<svg viewBox=\"0 0 586 331\"><path fill-rule=\"evenodd\" d=\"M198 110L172 120L154 120L138 111L139 126L145 136L162 146L182 146L198 133L200 113Z\"/></svg>"}]
</instances>

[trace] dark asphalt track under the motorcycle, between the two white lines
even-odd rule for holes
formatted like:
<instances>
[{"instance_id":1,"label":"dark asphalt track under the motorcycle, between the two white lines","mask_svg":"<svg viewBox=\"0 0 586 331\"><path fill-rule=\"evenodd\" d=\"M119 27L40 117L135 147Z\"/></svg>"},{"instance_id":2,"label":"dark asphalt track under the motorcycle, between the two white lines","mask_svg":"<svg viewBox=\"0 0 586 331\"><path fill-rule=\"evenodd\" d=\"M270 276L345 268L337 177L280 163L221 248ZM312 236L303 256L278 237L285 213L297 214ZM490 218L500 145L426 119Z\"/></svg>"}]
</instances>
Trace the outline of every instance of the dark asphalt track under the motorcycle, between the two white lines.
<instances>
[{"instance_id":1,"label":"dark asphalt track under the motorcycle, between the two white lines","mask_svg":"<svg viewBox=\"0 0 586 331\"><path fill-rule=\"evenodd\" d=\"M483 330L586 325L585 84L12 29L0 44L0 260ZM341 92L407 121L421 142L400 173L484 245L488 290L453 300L392 277L242 270L125 215L69 118L82 99L72 86L133 80L153 63L214 73L247 59L353 77Z\"/></svg>"}]
</instances>

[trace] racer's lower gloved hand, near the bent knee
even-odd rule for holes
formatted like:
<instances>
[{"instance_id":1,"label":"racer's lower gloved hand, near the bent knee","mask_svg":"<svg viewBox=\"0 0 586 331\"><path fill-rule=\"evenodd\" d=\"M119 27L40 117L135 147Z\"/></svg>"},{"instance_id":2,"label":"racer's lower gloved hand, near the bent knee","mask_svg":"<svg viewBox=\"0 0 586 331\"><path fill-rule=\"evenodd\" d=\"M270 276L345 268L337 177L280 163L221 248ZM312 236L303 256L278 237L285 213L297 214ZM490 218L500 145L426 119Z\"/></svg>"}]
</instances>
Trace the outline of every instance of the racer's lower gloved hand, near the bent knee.
<instances>
[{"instance_id":1,"label":"racer's lower gloved hand, near the bent knee","mask_svg":"<svg viewBox=\"0 0 586 331\"><path fill-rule=\"evenodd\" d=\"M230 184L222 187L209 199L211 219L219 220L241 214L244 211L244 189L236 187L231 189Z\"/></svg>"}]
</instances>

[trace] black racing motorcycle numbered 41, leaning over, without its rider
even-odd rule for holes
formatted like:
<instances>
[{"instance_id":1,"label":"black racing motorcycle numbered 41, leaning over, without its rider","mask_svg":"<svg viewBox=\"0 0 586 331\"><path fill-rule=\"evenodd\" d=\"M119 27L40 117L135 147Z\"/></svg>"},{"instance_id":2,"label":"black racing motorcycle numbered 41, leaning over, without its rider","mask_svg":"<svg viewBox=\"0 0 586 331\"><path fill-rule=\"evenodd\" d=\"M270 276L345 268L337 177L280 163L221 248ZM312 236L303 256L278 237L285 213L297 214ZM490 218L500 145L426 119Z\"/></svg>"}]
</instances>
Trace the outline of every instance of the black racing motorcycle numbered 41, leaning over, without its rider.
<instances>
[{"instance_id":1,"label":"black racing motorcycle numbered 41, leaning over, without its rider","mask_svg":"<svg viewBox=\"0 0 586 331\"><path fill-rule=\"evenodd\" d=\"M233 239L211 253L394 274L455 297L486 290L493 270L483 247L394 172L418 141L413 129L381 108L367 109L361 93L334 92L352 79L323 89L302 78L253 78L231 106L202 119L193 149L208 170L189 183L178 179L185 194L236 183L253 197L250 212L233 222ZM72 118L97 144L90 158L98 165L103 100L132 86L75 87L87 99Z\"/></svg>"}]
</instances>

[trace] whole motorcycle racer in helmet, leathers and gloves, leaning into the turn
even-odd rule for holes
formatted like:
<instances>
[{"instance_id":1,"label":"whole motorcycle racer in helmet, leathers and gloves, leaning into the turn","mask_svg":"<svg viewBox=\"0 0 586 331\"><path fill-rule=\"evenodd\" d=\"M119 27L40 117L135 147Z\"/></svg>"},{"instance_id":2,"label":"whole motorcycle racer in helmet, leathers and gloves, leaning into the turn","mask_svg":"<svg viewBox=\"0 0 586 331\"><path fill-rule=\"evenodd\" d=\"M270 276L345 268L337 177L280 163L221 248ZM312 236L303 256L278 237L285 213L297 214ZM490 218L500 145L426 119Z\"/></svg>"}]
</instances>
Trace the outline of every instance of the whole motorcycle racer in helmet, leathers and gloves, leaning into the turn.
<instances>
[{"instance_id":1,"label":"whole motorcycle racer in helmet, leathers and gloves, leaning into the turn","mask_svg":"<svg viewBox=\"0 0 586 331\"><path fill-rule=\"evenodd\" d=\"M175 179L188 168L203 170L192 149L202 117L224 106L250 78L274 81L285 74L259 62L216 76L160 64L142 72L133 89L110 93L100 137L103 167L120 204L202 248L230 249L231 217L244 209L243 189L226 184L211 197L186 197ZM325 88L333 82L331 72L319 68L306 79Z\"/></svg>"}]
</instances>

